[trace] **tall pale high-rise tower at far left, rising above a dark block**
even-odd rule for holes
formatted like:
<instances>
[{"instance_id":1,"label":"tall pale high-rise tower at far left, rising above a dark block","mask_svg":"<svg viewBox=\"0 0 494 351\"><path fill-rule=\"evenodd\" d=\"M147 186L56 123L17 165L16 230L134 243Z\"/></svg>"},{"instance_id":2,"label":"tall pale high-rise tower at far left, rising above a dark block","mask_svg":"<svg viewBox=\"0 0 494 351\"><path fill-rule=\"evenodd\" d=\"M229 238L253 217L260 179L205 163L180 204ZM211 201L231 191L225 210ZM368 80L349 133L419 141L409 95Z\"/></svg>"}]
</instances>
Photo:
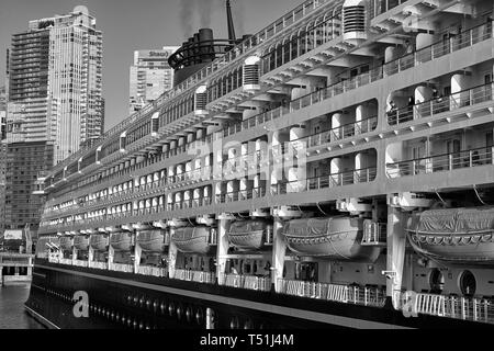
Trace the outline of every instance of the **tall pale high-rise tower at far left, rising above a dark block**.
<instances>
[{"instance_id":1,"label":"tall pale high-rise tower at far left, rising above a dark block","mask_svg":"<svg viewBox=\"0 0 494 351\"><path fill-rule=\"evenodd\" d=\"M54 163L103 132L102 33L86 7L12 36L8 141L53 141Z\"/></svg>"}]
</instances>

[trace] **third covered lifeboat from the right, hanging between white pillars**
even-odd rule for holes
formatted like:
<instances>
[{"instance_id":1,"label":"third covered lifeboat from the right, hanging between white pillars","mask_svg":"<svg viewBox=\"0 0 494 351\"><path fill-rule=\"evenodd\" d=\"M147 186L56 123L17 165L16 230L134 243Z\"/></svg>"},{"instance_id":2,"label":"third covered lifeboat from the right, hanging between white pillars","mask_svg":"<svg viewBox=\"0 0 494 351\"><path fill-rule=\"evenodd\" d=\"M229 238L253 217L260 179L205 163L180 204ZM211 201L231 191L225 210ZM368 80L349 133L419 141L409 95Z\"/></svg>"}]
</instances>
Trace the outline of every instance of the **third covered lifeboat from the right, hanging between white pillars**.
<instances>
[{"instance_id":1,"label":"third covered lifeboat from the right, hanging between white pillars","mask_svg":"<svg viewBox=\"0 0 494 351\"><path fill-rule=\"evenodd\" d=\"M272 226L266 220L237 220L232 223L228 231L229 242L240 250L258 250L265 246Z\"/></svg>"}]
</instances>

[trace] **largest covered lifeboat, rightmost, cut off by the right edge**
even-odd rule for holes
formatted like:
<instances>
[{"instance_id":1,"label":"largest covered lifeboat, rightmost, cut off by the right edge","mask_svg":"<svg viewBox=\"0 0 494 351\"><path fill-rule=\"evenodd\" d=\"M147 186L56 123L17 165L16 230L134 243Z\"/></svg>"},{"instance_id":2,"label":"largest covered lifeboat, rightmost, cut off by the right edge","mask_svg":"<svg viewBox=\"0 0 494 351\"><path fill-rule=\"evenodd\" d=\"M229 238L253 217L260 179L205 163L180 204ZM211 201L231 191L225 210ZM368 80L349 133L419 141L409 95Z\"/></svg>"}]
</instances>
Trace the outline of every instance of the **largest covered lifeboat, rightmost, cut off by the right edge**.
<instances>
[{"instance_id":1,"label":"largest covered lifeboat, rightmost, cut off by the right edge","mask_svg":"<svg viewBox=\"0 0 494 351\"><path fill-rule=\"evenodd\" d=\"M413 214L406 225L418 253L458 263L494 263L494 207L441 208Z\"/></svg>"}]
</instances>

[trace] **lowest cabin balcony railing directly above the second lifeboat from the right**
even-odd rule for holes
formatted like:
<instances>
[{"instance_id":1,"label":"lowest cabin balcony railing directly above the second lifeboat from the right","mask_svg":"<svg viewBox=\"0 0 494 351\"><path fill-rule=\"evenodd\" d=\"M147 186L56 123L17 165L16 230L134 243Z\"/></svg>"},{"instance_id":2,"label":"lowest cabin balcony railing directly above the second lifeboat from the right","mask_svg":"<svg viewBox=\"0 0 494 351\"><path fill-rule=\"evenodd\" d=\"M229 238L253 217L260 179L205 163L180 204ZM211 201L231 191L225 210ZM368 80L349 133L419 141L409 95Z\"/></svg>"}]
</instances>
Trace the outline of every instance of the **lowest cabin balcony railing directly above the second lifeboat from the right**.
<instances>
[{"instance_id":1,"label":"lowest cabin balcony railing directly above the second lifeboat from the right","mask_svg":"<svg viewBox=\"0 0 494 351\"><path fill-rule=\"evenodd\" d=\"M282 195L302 191L312 191L326 188L372 182L377 176L377 168L364 168L340 173L308 178L301 181L291 181L271 185L272 195Z\"/></svg>"}]
</instances>

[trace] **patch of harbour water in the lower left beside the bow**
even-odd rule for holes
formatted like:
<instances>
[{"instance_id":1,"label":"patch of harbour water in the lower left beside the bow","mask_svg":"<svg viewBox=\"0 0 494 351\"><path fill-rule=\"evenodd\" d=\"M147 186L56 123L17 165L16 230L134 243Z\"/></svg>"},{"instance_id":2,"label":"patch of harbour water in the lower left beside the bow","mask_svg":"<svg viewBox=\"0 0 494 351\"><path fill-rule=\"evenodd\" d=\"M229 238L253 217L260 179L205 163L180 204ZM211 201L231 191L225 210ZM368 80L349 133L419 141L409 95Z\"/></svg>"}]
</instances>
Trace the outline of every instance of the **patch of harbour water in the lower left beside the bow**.
<instances>
[{"instance_id":1,"label":"patch of harbour water in the lower left beside the bow","mask_svg":"<svg viewBox=\"0 0 494 351\"><path fill-rule=\"evenodd\" d=\"M43 329L43 326L24 310L30 294L30 283L0 287L0 329Z\"/></svg>"}]
</instances>

